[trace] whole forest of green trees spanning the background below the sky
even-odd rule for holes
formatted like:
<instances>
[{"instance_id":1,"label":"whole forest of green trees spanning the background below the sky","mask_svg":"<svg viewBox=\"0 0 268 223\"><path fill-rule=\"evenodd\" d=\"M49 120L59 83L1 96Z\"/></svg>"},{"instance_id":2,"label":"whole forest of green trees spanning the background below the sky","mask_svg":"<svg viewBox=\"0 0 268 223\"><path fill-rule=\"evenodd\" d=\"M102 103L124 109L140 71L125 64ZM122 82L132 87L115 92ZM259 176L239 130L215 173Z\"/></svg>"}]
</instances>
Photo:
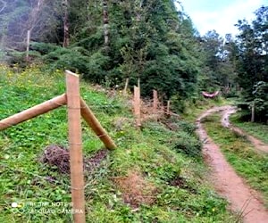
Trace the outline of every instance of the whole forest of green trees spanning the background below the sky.
<instances>
[{"instance_id":1,"label":"whole forest of green trees spanning the background below the sky","mask_svg":"<svg viewBox=\"0 0 268 223\"><path fill-rule=\"evenodd\" d=\"M239 96L245 120L254 106L255 120L266 122L268 7L238 21L237 37L200 36L182 9L173 0L3 0L0 58L70 69L110 87L139 78L143 96L154 88L178 111L201 91L221 90Z\"/></svg>"}]
</instances>

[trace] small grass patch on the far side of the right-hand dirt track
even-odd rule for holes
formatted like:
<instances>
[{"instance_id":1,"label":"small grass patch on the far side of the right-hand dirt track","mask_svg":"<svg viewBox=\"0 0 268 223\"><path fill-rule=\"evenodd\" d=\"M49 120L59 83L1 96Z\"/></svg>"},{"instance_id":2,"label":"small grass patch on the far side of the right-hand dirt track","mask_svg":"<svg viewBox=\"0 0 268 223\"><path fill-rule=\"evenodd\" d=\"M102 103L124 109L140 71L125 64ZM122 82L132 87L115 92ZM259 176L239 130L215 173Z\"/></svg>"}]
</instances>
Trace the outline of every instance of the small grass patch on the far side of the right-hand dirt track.
<instances>
[{"instance_id":1,"label":"small grass patch on the far side of the right-hand dirt track","mask_svg":"<svg viewBox=\"0 0 268 223\"><path fill-rule=\"evenodd\" d=\"M239 120L239 114L232 115L230 121L235 126L243 129L247 134L255 136L262 140L265 144L268 144L268 125Z\"/></svg>"}]
</instances>

